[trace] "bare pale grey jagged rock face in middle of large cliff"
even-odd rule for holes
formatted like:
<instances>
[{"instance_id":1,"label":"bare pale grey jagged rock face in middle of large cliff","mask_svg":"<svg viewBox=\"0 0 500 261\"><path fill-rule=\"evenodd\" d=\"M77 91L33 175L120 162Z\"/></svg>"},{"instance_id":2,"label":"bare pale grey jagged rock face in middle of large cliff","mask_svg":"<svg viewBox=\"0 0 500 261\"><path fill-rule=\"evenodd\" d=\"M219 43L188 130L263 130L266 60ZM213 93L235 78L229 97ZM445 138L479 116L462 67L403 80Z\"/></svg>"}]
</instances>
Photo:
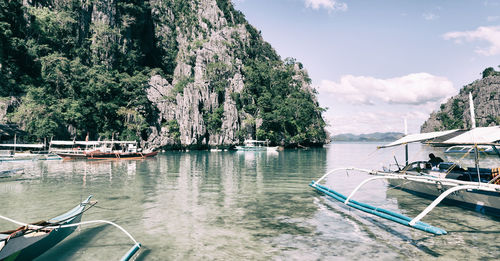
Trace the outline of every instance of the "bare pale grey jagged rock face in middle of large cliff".
<instances>
[{"instance_id":1,"label":"bare pale grey jagged rock face in middle of large cliff","mask_svg":"<svg viewBox=\"0 0 500 261\"><path fill-rule=\"evenodd\" d=\"M185 17L174 17L173 13L165 9L164 2L151 3L154 19L164 22L188 20ZM192 1L190 7L194 10L195 23L200 27L192 30L182 30L180 27L174 29L178 53L172 82L160 75L153 75L150 80L148 97L160 111L158 123L161 128L151 129L147 140L149 147L172 146L176 142L183 147L230 146L240 142L237 135L239 130L254 130L262 122L261 119L256 119L257 126L247 126L249 124L245 119L252 116L239 112L231 95L240 93L244 88L243 63L233 47L248 45L249 32L242 24L228 26L215 0ZM160 14L166 17L155 17ZM169 39L169 35L173 33L165 23L155 24L155 32L158 39ZM209 67L214 65L222 67L218 73L227 77L223 79L227 82L222 96L212 88L213 78L216 77L210 75ZM301 71L298 66L296 71L297 75L294 77L302 83L303 89L312 93L311 86L303 79L306 72ZM206 117L203 115L213 113L220 107L223 108L220 129L208 130ZM165 124L169 122L178 123L178 140L172 138L172 128Z\"/></svg>"}]
</instances>

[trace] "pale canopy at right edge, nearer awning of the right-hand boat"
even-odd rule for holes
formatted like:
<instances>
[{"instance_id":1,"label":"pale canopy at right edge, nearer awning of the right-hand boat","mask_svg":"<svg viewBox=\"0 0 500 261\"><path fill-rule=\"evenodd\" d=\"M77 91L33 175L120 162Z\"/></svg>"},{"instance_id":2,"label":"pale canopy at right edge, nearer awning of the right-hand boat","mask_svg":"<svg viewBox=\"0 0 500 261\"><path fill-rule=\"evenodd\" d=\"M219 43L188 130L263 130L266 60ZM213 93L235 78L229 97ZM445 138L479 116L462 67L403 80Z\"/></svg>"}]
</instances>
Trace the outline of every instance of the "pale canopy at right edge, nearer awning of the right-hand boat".
<instances>
[{"instance_id":1,"label":"pale canopy at right edge, nearer awning of the right-hand boat","mask_svg":"<svg viewBox=\"0 0 500 261\"><path fill-rule=\"evenodd\" d=\"M500 126L492 126L492 127L478 127L469 130L454 138L442 141L441 144L449 144L449 145L493 144L499 140L500 140Z\"/></svg>"}]
</instances>

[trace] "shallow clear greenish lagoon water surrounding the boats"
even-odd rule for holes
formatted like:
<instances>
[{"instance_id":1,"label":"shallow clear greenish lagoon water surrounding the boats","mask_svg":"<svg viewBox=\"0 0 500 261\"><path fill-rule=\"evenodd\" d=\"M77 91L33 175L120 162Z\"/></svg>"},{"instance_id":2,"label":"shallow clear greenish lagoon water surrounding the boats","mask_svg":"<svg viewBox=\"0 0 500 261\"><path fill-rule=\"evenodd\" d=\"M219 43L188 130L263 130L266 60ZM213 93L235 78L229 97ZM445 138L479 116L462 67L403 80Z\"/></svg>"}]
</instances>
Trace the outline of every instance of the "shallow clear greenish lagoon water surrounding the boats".
<instances>
[{"instance_id":1,"label":"shallow clear greenish lagoon water surrounding the boats","mask_svg":"<svg viewBox=\"0 0 500 261\"><path fill-rule=\"evenodd\" d=\"M340 143L323 149L259 152L166 152L141 161L3 162L24 167L22 180L0 181L0 215L38 221L58 215L89 194L99 203L83 220L106 219L127 229L143 249L138 260L388 260L495 259L497 219L452 206L424 222L433 236L344 207L308 184L328 170L380 169L403 163L403 150ZM442 149L415 145L410 160ZM464 165L471 158L462 160ZM500 166L496 159L487 163ZM349 193L367 176L339 172L328 186ZM355 199L409 216L429 200L369 183ZM15 227L0 221L0 229ZM116 260L132 242L110 226L77 230L39 260Z\"/></svg>"}]
</instances>

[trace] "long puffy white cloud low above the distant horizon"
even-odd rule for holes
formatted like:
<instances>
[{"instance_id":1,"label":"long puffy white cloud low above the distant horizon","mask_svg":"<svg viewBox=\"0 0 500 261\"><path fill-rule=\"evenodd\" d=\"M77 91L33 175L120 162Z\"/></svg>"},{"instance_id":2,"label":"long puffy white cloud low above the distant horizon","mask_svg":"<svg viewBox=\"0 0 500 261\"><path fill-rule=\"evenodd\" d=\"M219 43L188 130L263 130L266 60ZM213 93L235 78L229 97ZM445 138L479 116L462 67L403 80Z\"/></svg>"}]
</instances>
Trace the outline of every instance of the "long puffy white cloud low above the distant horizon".
<instances>
[{"instance_id":1,"label":"long puffy white cloud low above the distant horizon","mask_svg":"<svg viewBox=\"0 0 500 261\"><path fill-rule=\"evenodd\" d=\"M318 90L320 94L330 93L338 100L354 104L420 105L442 101L456 93L451 81L429 73L389 79L344 75L340 82L321 81Z\"/></svg>"}]
</instances>

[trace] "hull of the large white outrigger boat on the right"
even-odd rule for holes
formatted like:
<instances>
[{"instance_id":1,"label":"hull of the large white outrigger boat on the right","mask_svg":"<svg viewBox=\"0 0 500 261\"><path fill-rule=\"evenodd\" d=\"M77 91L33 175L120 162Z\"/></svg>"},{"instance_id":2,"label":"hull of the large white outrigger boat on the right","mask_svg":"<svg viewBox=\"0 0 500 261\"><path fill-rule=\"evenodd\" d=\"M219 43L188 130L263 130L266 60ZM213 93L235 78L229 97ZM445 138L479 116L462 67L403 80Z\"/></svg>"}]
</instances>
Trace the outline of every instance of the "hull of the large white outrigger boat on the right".
<instances>
[{"instance_id":1,"label":"hull of the large white outrigger boat on the right","mask_svg":"<svg viewBox=\"0 0 500 261\"><path fill-rule=\"evenodd\" d=\"M390 179L389 184L392 187L429 199L435 199L451 188L451 186L439 183L422 183L406 179ZM459 190L446 197L443 203L475 210L487 215L500 216L499 192Z\"/></svg>"}]
</instances>

